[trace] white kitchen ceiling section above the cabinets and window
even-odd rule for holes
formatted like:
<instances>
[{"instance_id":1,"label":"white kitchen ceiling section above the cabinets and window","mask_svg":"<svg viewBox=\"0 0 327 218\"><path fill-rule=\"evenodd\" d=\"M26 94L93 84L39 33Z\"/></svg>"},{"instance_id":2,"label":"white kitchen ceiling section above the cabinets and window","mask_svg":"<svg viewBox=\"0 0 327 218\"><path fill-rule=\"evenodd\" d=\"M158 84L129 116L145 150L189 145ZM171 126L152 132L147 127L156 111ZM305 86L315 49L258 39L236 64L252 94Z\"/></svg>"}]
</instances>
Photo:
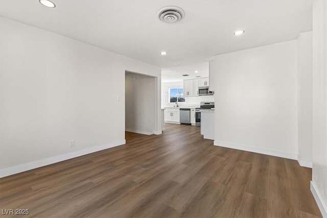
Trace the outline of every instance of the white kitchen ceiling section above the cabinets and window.
<instances>
[{"instance_id":1,"label":"white kitchen ceiling section above the cabinets and window","mask_svg":"<svg viewBox=\"0 0 327 218\"><path fill-rule=\"evenodd\" d=\"M197 73L195 71L198 71ZM188 77L183 77L188 74ZM196 76L209 76L209 62L200 62L195 64L177 65L161 68L161 82L176 82L188 79L195 79Z\"/></svg>"}]
</instances>

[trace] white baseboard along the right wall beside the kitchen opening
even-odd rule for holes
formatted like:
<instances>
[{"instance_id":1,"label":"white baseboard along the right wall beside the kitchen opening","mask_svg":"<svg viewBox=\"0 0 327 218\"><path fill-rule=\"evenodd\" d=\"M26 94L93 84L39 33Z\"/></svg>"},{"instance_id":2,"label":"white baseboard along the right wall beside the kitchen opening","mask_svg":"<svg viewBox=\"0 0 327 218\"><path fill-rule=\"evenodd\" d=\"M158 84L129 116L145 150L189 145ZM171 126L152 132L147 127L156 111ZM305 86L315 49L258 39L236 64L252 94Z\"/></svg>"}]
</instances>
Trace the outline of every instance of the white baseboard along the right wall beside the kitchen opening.
<instances>
[{"instance_id":1,"label":"white baseboard along the right wall beside the kitchen opening","mask_svg":"<svg viewBox=\"0 0 327 218\"><path fill-rule=\"evenodd\" d=\"M230 143L230 142L224 142L224 141L214 141L214 146L220 146L230 149L237 149L242 151L248 151L248 152L255 152L259 154L266 154L276 157L283 157L287 159L297 160L297 154L288 153L288 152L282 152L282 151L275 151L270 149L264 149L264 148L256 148L251 146L244 146L243 144L237 144L237 143Z\"/></svg>"}]
</instances>

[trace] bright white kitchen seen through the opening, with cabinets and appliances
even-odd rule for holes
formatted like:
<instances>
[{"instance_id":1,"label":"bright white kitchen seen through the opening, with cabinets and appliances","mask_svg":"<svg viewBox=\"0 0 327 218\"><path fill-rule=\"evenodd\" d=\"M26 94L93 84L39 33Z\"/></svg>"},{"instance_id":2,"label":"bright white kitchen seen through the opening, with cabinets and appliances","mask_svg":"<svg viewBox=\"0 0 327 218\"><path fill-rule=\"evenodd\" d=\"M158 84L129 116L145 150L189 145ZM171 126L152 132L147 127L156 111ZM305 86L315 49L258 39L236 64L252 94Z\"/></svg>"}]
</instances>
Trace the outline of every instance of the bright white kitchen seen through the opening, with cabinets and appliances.
<instances>
[{"instance_id":1,"label":"bright white kitchen seen through the opening, with cabinets and appliances","mask_svg":"<svg viewBox=\"0 0 327 218\"><path fill-rule=\"evenodd\" d=\"M162 68L161 94L165 123L198 127L203 138L214 140L209 62Z\"/></svg>"}]
</instances>

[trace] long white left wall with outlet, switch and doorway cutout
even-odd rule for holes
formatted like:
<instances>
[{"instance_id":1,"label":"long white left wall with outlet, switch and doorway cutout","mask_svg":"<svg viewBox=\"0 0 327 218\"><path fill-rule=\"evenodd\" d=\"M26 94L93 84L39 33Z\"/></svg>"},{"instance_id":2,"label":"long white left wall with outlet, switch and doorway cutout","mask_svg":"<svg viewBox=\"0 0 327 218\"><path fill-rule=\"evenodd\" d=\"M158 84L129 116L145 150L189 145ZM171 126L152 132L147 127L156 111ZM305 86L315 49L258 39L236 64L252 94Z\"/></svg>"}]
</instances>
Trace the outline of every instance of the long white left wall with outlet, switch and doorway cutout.
<instances>
[{"instance_id":1,"label":"long white left wall with outlet, switch and doorway cutout","mask_svg":"<svg viewBox=\"0 0 327 218\"><path fill-rule=\"evenodd\" d=\"M161 131L159 67L4 17L0 28L1 176L124 143L125 70L156 77Z\"/></svg>"}]
</instances>

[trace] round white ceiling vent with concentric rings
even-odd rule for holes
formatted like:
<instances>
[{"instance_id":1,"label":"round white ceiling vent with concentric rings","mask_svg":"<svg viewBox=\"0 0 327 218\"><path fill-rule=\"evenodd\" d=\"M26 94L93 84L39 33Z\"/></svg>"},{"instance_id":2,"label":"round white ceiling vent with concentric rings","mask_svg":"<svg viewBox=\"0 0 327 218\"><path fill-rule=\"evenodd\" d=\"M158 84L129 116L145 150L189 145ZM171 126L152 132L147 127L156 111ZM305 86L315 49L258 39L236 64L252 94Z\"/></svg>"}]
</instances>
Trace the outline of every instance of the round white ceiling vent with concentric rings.
<instances>
[{"instance_id":1,"label":"round white ceiling vent with concentric rings","mask_svg":"<svg viewBox=\"0 0 327 218\"><path fill-rule=\"evenodd\" d=\"M184 17L185 13L183 9L177 6L166 6L161 8L157 16L162 22L173 23L181 20Z\"/></svg>"}]
</instances>

